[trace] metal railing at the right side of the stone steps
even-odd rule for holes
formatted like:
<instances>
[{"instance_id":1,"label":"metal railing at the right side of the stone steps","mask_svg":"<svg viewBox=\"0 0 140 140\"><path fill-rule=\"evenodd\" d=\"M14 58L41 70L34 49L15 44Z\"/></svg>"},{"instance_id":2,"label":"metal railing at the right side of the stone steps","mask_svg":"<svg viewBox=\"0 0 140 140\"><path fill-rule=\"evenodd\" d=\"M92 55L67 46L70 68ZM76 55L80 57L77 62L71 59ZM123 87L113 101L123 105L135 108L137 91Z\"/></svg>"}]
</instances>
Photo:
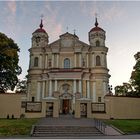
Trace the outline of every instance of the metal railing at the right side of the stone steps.
<instances>
[{"instance_id":1,"label":"metal railing at the right side of the stone steps","mask_svg":"<svg viewBox=\"0 0 140 140\"><path fill-rule=\"evenodd\" d=\"M95 121L95 127L101 131L104 135L106 135L106 124L104 122L102 122L101 120L98 120L98 119L94 119Z\"/></svg>"}]
</instances>

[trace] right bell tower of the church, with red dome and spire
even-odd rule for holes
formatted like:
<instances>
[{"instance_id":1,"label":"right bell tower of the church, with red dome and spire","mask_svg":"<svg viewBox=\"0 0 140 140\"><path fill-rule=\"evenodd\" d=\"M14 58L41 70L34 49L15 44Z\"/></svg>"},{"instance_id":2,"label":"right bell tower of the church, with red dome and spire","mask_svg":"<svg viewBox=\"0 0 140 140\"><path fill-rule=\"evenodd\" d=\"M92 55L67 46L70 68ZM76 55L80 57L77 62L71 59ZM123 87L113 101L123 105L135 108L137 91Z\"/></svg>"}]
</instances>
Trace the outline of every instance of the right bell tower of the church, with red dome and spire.
<instances>
[{"instance_id":1,"label":"right bell tower of the church, with red dome and spire","mask_svg":"<svg viewBox=\"0 0 140 140\"><path fill-rule=\"evenodd\" d=\"M107 52L105 46L105 31L99 27L97 17L95 27L89 31L89 44L91 52L91 71L94 90L93 102L104 102L104 96L108 93L110 75L107 68Z\"/></svg>"}]
</instances>

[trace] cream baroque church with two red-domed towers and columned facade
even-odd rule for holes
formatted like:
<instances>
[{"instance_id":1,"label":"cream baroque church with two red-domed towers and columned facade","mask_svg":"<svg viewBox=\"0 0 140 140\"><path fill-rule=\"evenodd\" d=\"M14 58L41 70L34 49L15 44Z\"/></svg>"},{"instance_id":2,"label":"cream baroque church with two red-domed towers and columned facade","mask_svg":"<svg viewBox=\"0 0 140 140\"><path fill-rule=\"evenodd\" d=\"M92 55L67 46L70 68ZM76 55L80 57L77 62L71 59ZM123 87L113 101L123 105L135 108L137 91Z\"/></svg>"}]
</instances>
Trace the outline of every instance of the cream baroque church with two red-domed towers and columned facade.
<instances>
[{"instance_id":1,"label":"cream baroque church with two red-domed towers and columned facade","mask_svg":"<svg viewBox=\"0 0 140 140\"><path fill-rule=\"evenodd\" d=\"M102 108L97 105L104 103L110 77L105 33L96 18L88 33L89 44L69 32L49 44L41 19L29 49L27 101L36 105L29 105L28 111L40 110L42 116L59 117L76 112L87 115L92 103Z\"/></svg>"}]
</instances>

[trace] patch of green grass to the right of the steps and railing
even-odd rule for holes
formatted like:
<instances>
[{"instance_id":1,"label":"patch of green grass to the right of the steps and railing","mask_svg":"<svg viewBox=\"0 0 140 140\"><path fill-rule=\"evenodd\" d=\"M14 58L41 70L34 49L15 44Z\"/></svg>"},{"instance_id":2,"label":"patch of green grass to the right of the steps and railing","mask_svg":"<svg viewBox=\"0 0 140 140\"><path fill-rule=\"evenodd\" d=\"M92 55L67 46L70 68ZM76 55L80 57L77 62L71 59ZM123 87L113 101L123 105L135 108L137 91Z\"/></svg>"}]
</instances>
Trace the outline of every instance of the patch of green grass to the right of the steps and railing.
<instances>
[{"instance_id":1,"label":"patch of green grass to the right of the steps and railing","mask_svg":"<svg viewBox=\"0 0 140 140\"><path fill-rule=\"evenodd\" d=\"M105 120L126 134L140 133L140 120Z\"/></svg>"}]
</instances>

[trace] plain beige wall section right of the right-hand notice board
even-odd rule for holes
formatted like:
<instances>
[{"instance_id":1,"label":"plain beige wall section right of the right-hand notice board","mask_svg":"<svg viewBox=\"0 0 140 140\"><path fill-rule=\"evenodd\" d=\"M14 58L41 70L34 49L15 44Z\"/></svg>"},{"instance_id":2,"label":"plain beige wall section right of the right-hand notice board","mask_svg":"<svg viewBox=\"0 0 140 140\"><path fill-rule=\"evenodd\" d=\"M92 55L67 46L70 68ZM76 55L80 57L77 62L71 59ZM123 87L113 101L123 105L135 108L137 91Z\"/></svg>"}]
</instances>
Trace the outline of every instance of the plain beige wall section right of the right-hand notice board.
<instances>
[{"instance_id":1,"label":"plain beige wall section right of the right-hand notice board","mask_svg":"<svg viewBox=\"0 0 140 140\"><path fill-rule=\"evenodd\" d=\"M140 119L139 97L106 96L107 114L114 119Z\"/></svg>"}]
</instances>

